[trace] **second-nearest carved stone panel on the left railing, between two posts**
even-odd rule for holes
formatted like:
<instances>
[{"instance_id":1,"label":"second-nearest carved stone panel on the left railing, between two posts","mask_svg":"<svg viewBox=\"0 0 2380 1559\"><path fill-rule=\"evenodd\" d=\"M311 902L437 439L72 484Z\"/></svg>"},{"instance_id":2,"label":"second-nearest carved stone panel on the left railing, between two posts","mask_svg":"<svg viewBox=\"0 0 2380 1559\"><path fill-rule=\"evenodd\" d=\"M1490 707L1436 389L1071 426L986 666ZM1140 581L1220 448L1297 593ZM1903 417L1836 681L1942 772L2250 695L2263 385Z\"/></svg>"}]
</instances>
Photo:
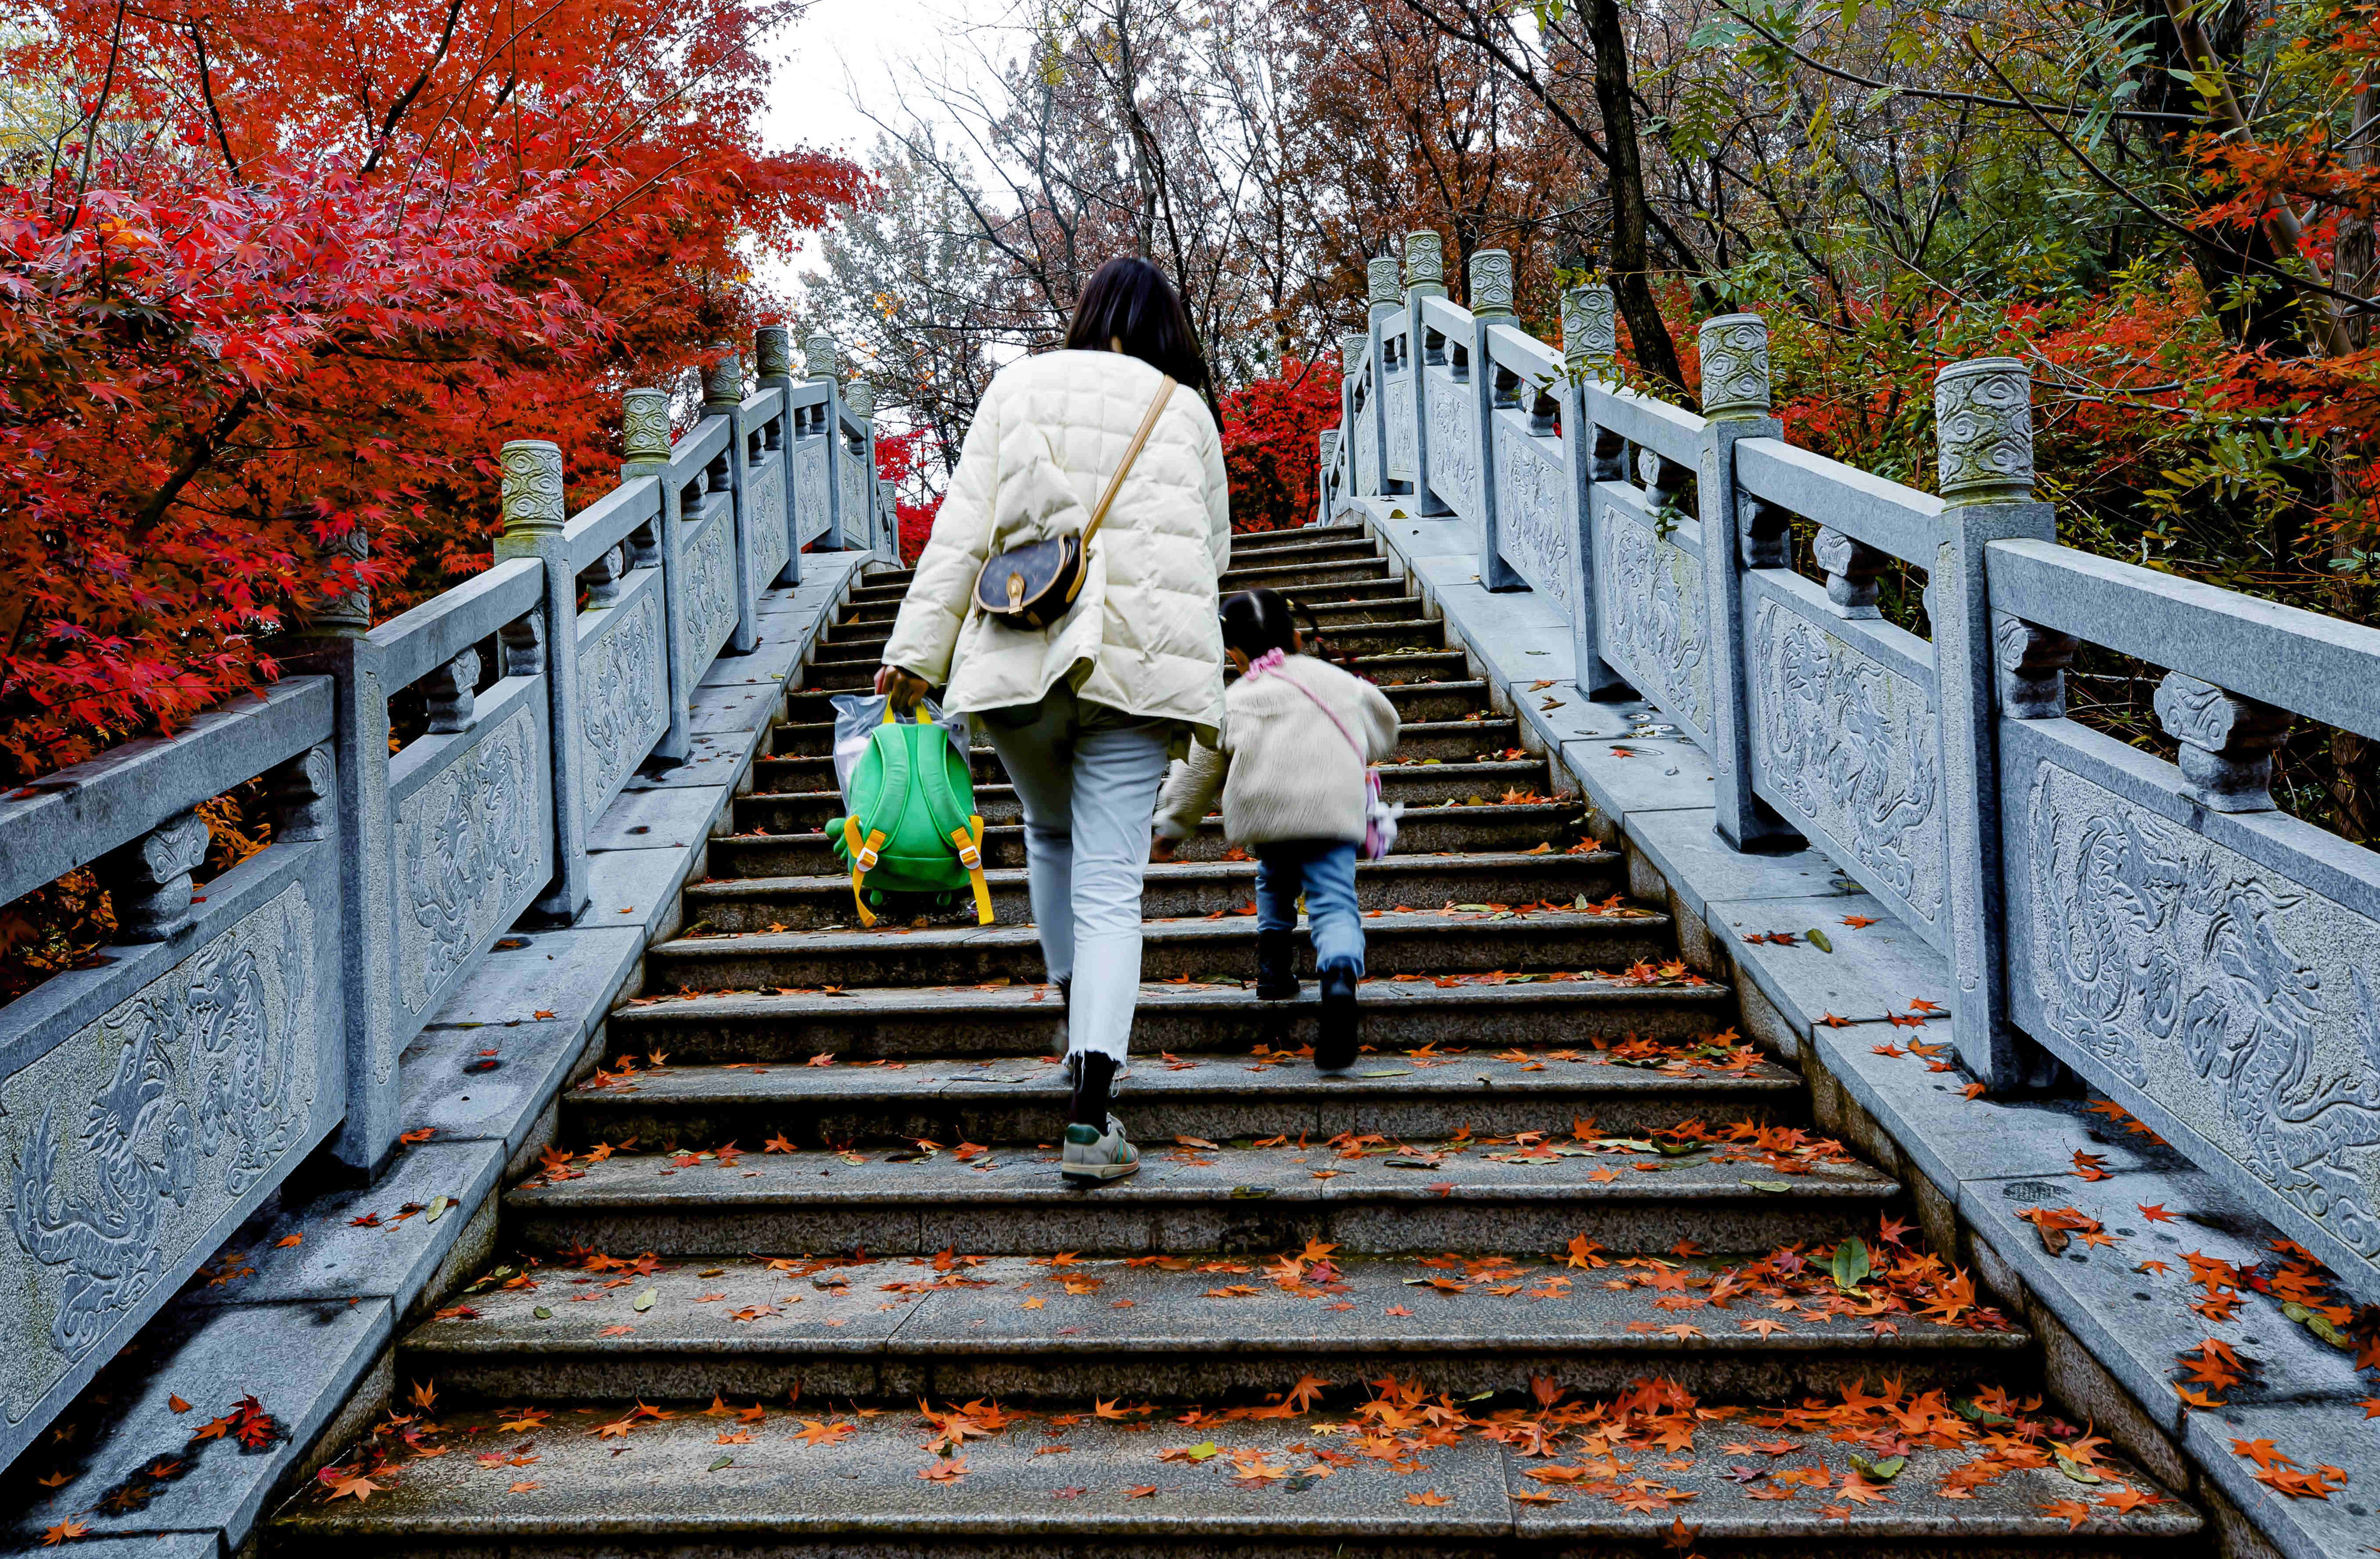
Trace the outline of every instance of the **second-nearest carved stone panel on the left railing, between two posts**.
<instances>
[{"instance_id":1,"label":"second-nearest carved stone panel on the left railing, between two posts","mask_svg":"<svg viewBox=\"0 0 2380 1559\"><path fill-rule=\"evenodd\" d=\"M431 1000L545 881L528 705L397 802L397 1000Z\"/></svg>"}]
</instances>

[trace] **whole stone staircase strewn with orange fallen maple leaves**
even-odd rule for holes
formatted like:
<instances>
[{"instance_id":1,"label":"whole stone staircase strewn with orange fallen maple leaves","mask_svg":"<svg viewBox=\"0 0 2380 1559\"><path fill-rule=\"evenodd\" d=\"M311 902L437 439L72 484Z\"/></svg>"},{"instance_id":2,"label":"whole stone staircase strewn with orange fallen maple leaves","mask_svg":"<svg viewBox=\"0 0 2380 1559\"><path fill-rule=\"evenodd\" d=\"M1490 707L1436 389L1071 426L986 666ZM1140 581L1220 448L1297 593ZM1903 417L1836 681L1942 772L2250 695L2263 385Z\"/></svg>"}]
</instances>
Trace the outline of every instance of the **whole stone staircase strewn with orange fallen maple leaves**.
<instances>
[{"instance_id":1,"label":"whole stone staircase strewn with orange fallen maple leaves","mask_svg":"<svg viewBox=\"0 0 2380 1559\"><path fill-rule=\"evenodd\" d=\"M1119 1100L1145 1166L1066 1188L992 755L995 926L859 931L819 833L828 700L873 674L907 578L852 595L685 935L507 1192L497 1264L402 1338L395 1409L267 1547L2102 1554L2199 1530L2035 1400L2030 1338L1914 1245L1902 1188L1806 1131L1799 1076L1626 902L1359 526L1240 538L1223 583L1290 593L1407 719L1399 852L1359 876L1368 1052L1319 1076L1311 983L1285 1009L1242 988L1254 866L1209 819L1147 878Z\"/></svg>"}]
</instances>

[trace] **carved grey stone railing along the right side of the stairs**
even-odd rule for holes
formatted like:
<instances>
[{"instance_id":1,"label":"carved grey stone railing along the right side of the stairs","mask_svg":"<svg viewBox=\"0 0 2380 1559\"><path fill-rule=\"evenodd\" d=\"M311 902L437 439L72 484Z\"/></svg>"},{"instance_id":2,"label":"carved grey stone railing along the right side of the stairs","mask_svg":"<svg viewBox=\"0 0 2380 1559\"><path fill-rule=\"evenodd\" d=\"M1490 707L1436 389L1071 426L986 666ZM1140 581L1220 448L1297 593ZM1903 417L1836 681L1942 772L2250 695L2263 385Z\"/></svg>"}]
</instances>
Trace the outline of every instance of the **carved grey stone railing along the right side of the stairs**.
<instances>
[{"instance_id":1,"label":"carved grey stone railing along the right side of the stairs","mask_svg":"<svg viewBox=\"0 0 2380 1559\"><path fill-rule=\"evenodd\" d=\"M2292 714L2380 738L2380 631L2056 545L2016 359L1935 378L1937 497L1787 445L1754 314L1702 326L1697 417L1618 386L1606 288L1564 295L1554 350L1507 255L1473 255L1468 309L1438 255L1409 238L1402 293L1371 264L1319 519L1476 526L1480 583L1568 619L1585 695L1711 757L1728 845L1806 838L1949 962L1975 1078L2047 1052L2380 1300L2380 857L2266 788ZM1883 621L1890 559L1930 640ZM2168 666L2180 766L2066 719L2080 640Z\"/></svg>"}]
</instances>

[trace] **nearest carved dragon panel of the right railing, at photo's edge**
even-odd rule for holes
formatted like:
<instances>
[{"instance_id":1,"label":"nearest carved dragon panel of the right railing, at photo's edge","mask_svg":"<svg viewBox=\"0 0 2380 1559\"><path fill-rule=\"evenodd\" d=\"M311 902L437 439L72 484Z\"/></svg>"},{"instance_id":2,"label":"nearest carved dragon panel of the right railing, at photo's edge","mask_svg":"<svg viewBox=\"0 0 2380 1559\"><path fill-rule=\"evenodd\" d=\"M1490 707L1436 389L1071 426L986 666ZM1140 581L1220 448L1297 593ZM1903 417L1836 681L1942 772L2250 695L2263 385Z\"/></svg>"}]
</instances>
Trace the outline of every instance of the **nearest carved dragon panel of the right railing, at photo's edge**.
<instances>
[{"instance_id":1,"label":"nearest carved dragon panel of the right railing, at photo's edge","mask_svg":"<svg viewBox=\"0 0 2380 1559\"><path fill-rule=\"evenodd\" d=\"M2380 921L2047 762L2025 828L2049 1031L2380 1257Z\"/></svg>"}]
</instances>

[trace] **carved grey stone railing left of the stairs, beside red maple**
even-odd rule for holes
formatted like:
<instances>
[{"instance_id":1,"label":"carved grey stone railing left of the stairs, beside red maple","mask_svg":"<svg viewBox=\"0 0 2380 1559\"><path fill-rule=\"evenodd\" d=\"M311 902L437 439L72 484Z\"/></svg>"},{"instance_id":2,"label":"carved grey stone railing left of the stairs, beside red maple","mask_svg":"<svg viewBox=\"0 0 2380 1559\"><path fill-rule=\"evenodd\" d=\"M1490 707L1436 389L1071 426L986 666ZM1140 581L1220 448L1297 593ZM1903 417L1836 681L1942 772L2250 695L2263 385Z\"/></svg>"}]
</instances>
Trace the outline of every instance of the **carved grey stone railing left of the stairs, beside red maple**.
<instances>
[{"instance_id":1,"label":"carved grey stone railing left of the stairs, beside red maple","mask_svg":"<svg viewBox=\"0 0 2380 1559\"><path fill-rule=\"evenodd\" d=\"M752 386L714 348L683 438L628 390L576 516L559 450L505 445L486 574L376 628L338 600L262 697L0 800L0 904L93 866L117 916L0 1007L0 1466L317 1147L388 1162L407 1043L516 919L585 907L590 824L688 757L693 688L802 547L892 550L866 386L828 338L809 378L783 328L757 348ZM390 750L407 690L426 731ZM259 776L271 843L195 890L193 807Z\"/></svg>"}]
</instances>

